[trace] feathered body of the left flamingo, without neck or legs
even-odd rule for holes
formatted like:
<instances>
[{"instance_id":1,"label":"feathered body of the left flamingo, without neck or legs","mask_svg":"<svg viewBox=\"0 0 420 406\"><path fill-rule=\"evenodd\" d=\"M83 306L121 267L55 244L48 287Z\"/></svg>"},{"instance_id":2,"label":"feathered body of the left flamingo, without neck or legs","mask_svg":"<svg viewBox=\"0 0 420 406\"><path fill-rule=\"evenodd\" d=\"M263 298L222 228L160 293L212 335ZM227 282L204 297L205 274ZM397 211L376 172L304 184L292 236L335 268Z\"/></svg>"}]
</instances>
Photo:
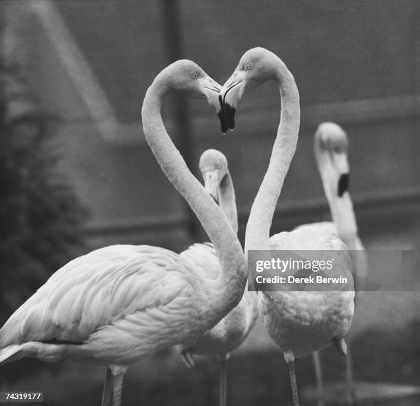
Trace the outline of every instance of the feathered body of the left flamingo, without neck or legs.
<instances>
[{"instance_id":1,"label":"feathered body of the left flamingo, without neck or legs","mask_svg":"<svg viewBox=\"0 0 420 406\"><path fill-rule=\"evenodd\" d=\"M22 343L39 341L41 359L45 350L50 360L139 361L206 329L201 310L211 304L202 302L210 300L202 277L167 249L97 249L59 269L8 319L1 348L19 343L25 353L31 347Z\"/></svg>"}]
</instances>

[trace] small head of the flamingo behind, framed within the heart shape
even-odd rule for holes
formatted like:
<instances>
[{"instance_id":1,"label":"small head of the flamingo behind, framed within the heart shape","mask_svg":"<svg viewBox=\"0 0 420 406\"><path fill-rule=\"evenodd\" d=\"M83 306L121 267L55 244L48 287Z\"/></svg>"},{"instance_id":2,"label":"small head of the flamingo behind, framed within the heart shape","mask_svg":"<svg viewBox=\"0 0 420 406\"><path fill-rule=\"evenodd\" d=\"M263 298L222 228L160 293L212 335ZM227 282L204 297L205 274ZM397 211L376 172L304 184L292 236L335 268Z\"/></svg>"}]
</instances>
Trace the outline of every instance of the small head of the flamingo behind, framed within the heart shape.
<instances>
[{"instance_id":1,"label":"small head of the flamingo behind, framed within the heart shape","mask_svg":"<svg viewBox=\"0 0 420 406\"><path fill-rule=\"evenodd\" d=\"M228 173L226 157L218 150L205 150L200 157L199 167L205 189L219 203L219 186Z\"/></svg>"}]
</instances>

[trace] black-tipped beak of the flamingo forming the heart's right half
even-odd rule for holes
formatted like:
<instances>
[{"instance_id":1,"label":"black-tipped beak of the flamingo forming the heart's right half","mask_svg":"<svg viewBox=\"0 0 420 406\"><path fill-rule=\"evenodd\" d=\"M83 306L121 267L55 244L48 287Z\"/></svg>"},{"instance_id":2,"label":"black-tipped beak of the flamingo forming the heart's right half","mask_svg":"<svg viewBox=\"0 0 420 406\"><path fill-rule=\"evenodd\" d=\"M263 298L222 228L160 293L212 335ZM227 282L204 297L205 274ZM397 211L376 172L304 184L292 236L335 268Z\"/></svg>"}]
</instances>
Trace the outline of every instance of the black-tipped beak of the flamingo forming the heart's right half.
<instances>
[{"instance_id":1,"label":"black-tipped beak of the flamingo forming the heart's right half","mask_svg":"<svg viewBox=\"0 0 420 406\"><path fill-rule=\"evenodd\" d=\"M219 103L222 107L222 114L226 120L227 128L235 128L235 112L237 103L242 98L246 86L244 71L235 71L226 80L219 94ZM227 130L226 128L226 130Z\"/></svg>"}]
</instances>

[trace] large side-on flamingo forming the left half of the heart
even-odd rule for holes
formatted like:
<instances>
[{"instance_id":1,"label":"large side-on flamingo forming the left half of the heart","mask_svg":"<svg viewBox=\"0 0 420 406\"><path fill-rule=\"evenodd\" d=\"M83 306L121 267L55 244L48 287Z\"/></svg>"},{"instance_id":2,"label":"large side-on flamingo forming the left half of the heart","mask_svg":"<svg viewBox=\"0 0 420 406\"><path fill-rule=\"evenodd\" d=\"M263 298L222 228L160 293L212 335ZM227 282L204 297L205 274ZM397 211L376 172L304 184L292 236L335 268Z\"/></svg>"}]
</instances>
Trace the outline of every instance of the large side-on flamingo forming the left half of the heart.
<instances>
[{"instance_id":1,"label":"large side-on flamingo forming the left half of the heart","mask_svg":"<svg viewBox=\"0 0 420 406\"><path fill-rule=\"evenodd\" d=\"M102 405L119 406L128 365L194 341L242 298L246 262L220 207L189 172L165 131L163 98L171 91L204 96L220 109L220 86L196 63L178 60L145 94L145 138L167 178L194 210L214 244L221 272L202 278L178 254L149 245L115 245L72 260L5 322L0 363L34 357L106 365Z\"/></svg>"}]
</instances>

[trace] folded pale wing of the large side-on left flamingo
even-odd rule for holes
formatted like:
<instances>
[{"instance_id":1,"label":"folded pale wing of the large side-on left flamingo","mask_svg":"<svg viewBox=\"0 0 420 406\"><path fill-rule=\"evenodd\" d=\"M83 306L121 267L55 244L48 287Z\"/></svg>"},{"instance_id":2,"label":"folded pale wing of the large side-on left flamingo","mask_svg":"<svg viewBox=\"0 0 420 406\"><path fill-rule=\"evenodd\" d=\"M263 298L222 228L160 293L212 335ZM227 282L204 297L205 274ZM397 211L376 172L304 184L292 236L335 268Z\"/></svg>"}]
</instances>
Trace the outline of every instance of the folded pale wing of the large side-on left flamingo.
<instances>
[{"instance_id":1,"label":"folded pale wing of the large side-on left flamingo","mask_svg":"<svg viewBox=\"0 0 420 406\"><path fill-rule=\"evenodd\" d=\"M60 268L0 330L0 348L25 341L84 342L97 330L169 304L191 278L172 251L115 245Z\"/></svg>"}]
</instances>

